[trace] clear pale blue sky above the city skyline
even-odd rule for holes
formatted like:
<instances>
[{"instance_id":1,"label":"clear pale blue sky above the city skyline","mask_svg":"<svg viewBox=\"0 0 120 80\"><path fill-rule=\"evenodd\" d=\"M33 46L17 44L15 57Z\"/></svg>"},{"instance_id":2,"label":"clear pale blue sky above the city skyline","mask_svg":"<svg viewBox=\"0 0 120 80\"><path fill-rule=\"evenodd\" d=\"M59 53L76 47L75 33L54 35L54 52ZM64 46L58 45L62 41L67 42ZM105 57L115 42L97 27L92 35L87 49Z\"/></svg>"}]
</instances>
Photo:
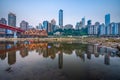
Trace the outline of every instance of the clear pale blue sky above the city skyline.
<instances>
[{"instance_id":1,"label":"clear pale blue sky above the city skyline","mask_svg":"<svg viewBox=\"0 0 120 80\"><path fill-rule=\"evenodd\" d=\"M44 20L56 20L63 10L63 25L80 22L81 18L104 23L105 14L110 13L111 22L120 22L120 0L0 0L0 18L8 20L8 13L17 16L17 26L22 20L37 26Z\"/></svg>"}]
</instances>

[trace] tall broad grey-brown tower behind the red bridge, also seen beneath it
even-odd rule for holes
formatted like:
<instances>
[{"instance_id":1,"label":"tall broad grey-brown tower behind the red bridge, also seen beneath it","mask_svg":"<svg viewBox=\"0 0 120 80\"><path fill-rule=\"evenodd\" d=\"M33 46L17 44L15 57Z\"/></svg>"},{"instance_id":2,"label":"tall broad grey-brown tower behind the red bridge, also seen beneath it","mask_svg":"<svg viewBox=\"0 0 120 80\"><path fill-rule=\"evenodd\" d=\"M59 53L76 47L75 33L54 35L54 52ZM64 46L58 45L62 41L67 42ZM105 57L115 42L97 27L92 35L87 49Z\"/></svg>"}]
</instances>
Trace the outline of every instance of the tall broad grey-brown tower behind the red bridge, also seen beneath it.
<instances>
[{"instance_id":1,"label":"tall broad grey-brown tower behind the red bridge, also seen beneath it","mask_svg":"<svg viewBox=\"0 0 120 80\"><path fill-rule=\"evenodd\" d=\"M16 27L16 15L13 13L8 14L8 25ZM11 30L7 30L7 34L13 34Z\"/></svg>"}]
</instances>

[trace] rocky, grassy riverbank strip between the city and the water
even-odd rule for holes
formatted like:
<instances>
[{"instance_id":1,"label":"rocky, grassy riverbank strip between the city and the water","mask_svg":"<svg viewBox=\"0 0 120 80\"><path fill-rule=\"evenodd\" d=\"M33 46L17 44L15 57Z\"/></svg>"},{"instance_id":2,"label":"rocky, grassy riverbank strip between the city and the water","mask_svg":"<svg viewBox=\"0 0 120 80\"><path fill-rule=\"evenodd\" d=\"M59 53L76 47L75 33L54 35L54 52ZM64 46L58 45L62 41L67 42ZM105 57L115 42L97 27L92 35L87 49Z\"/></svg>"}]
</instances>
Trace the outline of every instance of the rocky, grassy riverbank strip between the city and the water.
<instances>
[{"instance_id":1,"label":"rocky, grassy riverbank strip between the city and the water","mask_svg":"<svg viewBox=\"0 0 120 80\"><path fill-rule=\"evenodd\" d=\"M118 48L120 50L120 38L92 38L92 37L57 37L57 38L0 38L0 41L32 41L32 42L81 42L87 44L97 44L100 46Z\"/></svg>"}]
</instances>

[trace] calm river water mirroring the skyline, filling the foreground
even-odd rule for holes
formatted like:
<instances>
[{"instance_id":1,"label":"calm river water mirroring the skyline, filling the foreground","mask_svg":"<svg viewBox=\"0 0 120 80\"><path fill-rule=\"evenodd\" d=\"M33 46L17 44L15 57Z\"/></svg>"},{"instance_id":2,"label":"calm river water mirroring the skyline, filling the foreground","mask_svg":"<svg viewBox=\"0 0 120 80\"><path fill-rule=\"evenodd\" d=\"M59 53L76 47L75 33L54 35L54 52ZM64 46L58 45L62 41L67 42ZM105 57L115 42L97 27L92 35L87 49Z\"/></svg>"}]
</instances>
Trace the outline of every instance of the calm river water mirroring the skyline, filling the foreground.
<instances>
[{"instance_id":1,"label":"calm river water mirroring the skyline, filling the foreground","mask_svg":"<svg viewBox=\"0 0 120 80\"><path fill-rule=\"evenodd\" d=\"M120 80L120 54L82 43L3 41L0 80Z\"/></svg>"}]
</instances>

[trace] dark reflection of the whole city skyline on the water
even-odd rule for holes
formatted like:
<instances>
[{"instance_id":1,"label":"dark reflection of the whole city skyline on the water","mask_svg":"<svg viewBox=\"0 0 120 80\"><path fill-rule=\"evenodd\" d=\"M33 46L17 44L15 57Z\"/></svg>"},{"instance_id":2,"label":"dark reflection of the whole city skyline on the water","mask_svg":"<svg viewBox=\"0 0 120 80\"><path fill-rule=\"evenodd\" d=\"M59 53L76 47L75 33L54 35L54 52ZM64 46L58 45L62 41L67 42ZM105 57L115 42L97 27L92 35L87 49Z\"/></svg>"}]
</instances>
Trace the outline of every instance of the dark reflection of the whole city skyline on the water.
<instances>
[{"instance_id":1,"label":"dark reflection of the whole city skyline on the water","mask_svg":"<svg viewBox=\"0 0 120 80\"><path fill-rule=\"evenodd\" d=\"M21 57L25 58L29 56L29 52L34 50L44 58L55 59L56 54L58 54L58 67L60 69L63 67L63 54L71 55L73 51L83 62L85 61L85 54L89 60L92 55L96 58L102 55L106 65L110 65L110 57L116 57L118 53L116 49L81 43L0 42L0 58L4 60L7 57L9 65L16 63L16 51L20 51Z\"/></svg>"}]
</instances>

